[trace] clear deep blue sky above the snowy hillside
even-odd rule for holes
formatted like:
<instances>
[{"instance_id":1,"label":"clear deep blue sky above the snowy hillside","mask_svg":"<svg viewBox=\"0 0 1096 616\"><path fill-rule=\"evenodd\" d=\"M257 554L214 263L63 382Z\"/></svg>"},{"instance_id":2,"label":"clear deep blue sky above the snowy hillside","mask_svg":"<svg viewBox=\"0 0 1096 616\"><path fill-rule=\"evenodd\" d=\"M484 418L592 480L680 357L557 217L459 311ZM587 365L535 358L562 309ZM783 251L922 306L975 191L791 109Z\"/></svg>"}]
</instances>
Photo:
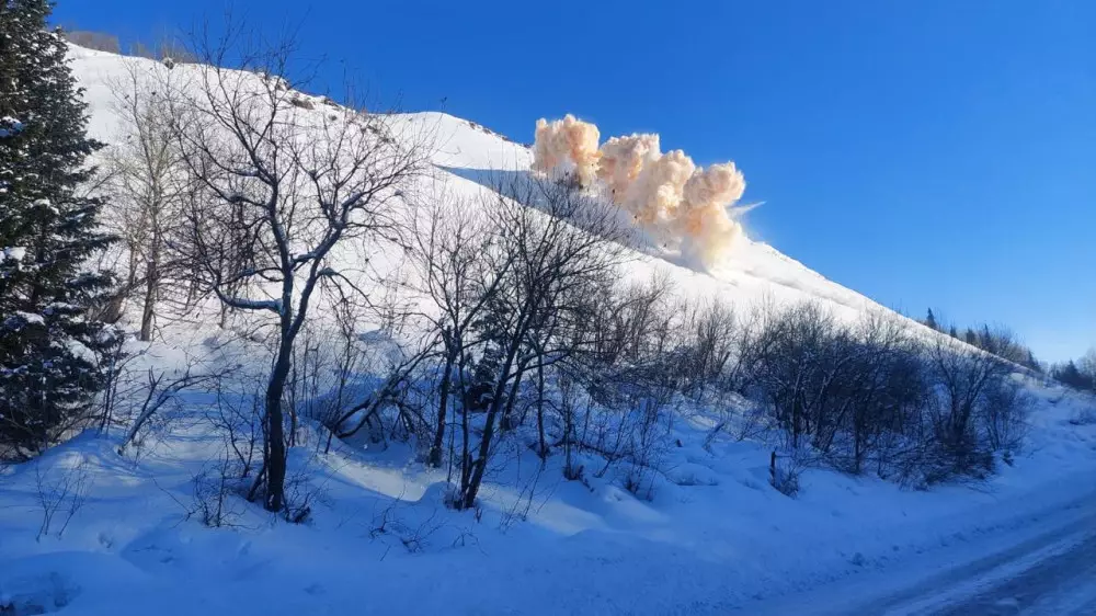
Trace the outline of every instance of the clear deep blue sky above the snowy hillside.
<instances>
[{"instance_id":1,"label":"clear deep blue sky above the snowy hillside","mask_svg":"<svg viewBox=\"0 0 1096 616\"><path fill-rule=\"evenodd\" d=\"M124 38L222 1L58 0ZM882 304L1096 343L1096 2L236 0L408 109L530 141L572 112L732 159L747 227ZM322 84L320 87L322 89ZM442 100L445 100L444 105Z\"/></svg>"}]
</instances>

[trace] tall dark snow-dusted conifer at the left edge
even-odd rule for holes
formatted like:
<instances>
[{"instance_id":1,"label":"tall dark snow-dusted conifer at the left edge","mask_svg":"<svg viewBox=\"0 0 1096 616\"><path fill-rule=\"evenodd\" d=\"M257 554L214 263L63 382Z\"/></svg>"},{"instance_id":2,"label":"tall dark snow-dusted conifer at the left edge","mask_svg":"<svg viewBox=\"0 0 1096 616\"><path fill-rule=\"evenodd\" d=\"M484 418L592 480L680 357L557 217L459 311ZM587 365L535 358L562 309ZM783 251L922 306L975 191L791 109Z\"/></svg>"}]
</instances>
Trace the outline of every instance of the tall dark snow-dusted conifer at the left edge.
<instances>
[{"instance_id":1,"label":"tall dark snow-dusted conifer at the left edge","mask_svg":"<svg viewBox=\"0 0 1096 616\"><path fill-rule=\"evenodd\" d=\"M101 145L50 9L0 0L0 455L41 450L83 415L118 342L88 317L112 283L87 267L111 241L102 202L79 194Z\"/></svg>"}]
</instances>

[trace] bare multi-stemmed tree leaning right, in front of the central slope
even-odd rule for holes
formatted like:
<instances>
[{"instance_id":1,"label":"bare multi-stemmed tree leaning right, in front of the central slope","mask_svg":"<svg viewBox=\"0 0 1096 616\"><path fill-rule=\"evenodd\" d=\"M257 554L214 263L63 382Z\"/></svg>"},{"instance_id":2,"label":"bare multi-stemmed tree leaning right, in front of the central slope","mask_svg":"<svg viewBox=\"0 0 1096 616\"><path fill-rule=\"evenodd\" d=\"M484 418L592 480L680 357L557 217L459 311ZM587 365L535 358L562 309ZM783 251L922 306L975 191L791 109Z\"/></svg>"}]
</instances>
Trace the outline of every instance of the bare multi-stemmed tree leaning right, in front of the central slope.
<instances>
[{"instance_id":1,"label":"bare multi-stemmed tree leaning right, in front of the central slope","mask_svg":"<svg viewBox=\"0 0 1096 616\"><path fill-rule=\"evenodd\" d=\"M477 358L461 366L464 448L458 507L472 507L493 440L510 426L523 379L562 362L576 349L576 298L610 277L629 240L612 205L584 197L566 182L518 175L498 186L490 213L494 259L509 263L487 312L476 321ZM539 384L538 384L539 385ZM538 401L543 401L538 386ZM478 445L469 446L470 413L482 412Z\"/></svg>"}]
</instances>

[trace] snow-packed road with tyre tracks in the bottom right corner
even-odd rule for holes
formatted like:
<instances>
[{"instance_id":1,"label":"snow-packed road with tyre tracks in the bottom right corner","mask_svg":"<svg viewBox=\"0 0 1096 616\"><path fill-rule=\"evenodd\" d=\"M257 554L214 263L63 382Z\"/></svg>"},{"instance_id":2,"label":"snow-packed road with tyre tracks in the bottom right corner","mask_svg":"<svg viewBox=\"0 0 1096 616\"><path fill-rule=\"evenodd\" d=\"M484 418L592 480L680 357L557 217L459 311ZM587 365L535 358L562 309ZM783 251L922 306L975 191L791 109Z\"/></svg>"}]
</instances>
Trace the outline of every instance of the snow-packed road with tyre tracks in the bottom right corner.
<instances>
[{"instance_id":1,"label":"snow-packed road with tyre tracks in the bottom right corner","mask_svg":"<svg viewBox=\"0 0 1096 616\"><path fill-rule=\"evenodd\" d=\"M1096 494L985 537L745 612L825 616L1096 616Z\"/></svg>"}]
</instances>

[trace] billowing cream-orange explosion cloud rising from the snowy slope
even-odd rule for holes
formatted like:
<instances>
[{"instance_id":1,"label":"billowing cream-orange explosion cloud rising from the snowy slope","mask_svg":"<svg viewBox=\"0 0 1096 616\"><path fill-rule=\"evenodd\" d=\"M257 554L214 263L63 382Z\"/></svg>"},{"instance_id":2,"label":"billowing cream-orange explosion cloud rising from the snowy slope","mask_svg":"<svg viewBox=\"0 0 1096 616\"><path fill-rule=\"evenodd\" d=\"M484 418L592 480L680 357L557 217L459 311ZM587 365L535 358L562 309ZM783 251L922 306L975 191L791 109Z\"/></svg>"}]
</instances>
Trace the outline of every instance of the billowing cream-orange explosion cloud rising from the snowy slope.
<instances>
[{"instance_id":1,"label":"billowing cream-orange explosion cloud rising from the snowy slope","mask_svg":"<svg viewBox=\"0 0 1096 616\"><path fill-rule=\"evenodd\" d=\"M597 127L568 114L538 119L533 168L571 172L579 184L600 182L614 204L649 229L670 233L706 264L742 237L729 209L745 192L733 162L697 168L682 150L660 151L659 136L612 137L597 147Z\"/></svg>"}]
</instances>

